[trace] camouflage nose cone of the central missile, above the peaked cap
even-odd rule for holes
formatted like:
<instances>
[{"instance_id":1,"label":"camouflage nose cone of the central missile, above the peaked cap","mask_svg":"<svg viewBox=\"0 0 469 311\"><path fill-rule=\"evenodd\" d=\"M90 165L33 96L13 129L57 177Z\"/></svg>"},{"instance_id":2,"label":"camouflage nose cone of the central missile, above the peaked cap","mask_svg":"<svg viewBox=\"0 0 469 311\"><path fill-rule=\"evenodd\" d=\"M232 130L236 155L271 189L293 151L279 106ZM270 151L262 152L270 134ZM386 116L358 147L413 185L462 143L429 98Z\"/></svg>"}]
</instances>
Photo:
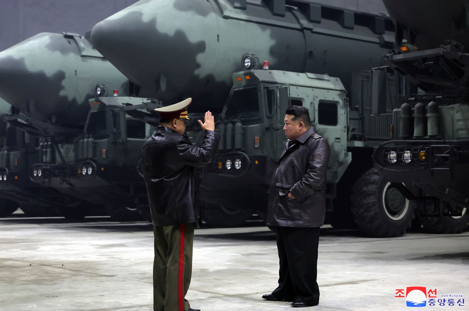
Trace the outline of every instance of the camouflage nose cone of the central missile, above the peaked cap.
<instances>
[{"instance_id":1,"label":"camouflage nose cone of the central missile, above the peaked cap","mask_svg":"<svg viewBox=\"0 0 469 311\"><path fill-rule=\"evenodd\" d=\"M132 82L165 100L205 87L218 31L206 0L142 0L96 24L91 41Z\"/></svg>"}]
</instances>

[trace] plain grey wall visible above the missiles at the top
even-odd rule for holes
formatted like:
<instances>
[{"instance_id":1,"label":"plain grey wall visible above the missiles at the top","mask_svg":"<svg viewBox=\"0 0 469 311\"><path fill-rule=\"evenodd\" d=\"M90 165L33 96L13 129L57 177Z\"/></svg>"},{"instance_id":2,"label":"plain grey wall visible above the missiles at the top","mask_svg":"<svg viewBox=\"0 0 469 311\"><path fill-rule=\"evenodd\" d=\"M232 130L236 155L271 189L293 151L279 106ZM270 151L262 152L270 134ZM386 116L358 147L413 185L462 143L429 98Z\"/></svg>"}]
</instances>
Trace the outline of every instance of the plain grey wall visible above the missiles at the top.
<instances>
[{"instance_id":1,"label":"plain grey wall visible above the missiles at the top","mask_svg":"<svg viewBox=\"0 0 469 311\"><path fill-rule=\"evenodd\" d=\"M0 51L39 32L84 35L99 21L137 0L0 0ZM381 0L315 0L368 13L386 13Z\"/></svg>"}]
</instances>

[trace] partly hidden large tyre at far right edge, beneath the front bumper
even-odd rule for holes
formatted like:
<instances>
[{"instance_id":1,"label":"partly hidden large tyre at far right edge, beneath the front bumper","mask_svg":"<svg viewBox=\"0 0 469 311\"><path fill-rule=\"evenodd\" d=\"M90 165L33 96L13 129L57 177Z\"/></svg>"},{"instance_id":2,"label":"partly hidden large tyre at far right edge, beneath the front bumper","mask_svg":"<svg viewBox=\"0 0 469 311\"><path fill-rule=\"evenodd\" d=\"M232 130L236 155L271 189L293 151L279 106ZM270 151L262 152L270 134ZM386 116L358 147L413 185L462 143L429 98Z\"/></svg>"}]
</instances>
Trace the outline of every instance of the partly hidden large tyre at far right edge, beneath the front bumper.
<instances>
[{"instance_id":1,"label":"partly hidden large tyre at far right edge, beneath the front bumper","mask_svg":"<svg viewBox=\"0 0 469 311\"><path fill-rule=\"evenodd\" d=\"M433 204L429 202L428 204ZM440 202L440 204L447 204ZM425 233L454 234L467 229L469 222L469 209L463 208L461 216L418 216Z\"/></svg>"}]
</instances>

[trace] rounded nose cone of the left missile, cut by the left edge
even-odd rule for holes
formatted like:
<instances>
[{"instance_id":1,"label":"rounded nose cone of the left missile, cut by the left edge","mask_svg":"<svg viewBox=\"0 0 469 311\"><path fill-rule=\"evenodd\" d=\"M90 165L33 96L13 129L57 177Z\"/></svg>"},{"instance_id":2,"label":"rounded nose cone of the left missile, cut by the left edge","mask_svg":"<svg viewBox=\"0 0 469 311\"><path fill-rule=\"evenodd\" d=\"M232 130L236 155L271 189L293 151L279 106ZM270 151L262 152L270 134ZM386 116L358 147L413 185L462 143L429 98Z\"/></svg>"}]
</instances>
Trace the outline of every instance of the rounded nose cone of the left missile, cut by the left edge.
<instances>
[{"instance_id":1,"label":"rounded nose cone of the left missile, cut by the left edge","mask_svg":"<svg viewBox=\"0 0 469 311\"><path fill-rule=\"evenodd\" d=\"M0 97L27 115L52 113L47 103L69 87L65 69L75 58L72 46L58 38L63 41L40 33L0 52Z\"/></svg>"}]
</instances>

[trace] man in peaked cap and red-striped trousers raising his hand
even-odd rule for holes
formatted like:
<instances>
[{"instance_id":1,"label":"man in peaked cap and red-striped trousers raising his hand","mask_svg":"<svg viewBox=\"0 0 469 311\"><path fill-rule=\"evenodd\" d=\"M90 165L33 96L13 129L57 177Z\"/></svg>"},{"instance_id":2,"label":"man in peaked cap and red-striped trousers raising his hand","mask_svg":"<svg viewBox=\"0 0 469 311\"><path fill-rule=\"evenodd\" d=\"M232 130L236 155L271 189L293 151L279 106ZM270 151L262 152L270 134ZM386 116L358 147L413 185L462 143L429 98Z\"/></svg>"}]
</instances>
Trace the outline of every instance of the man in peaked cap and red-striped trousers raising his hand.
<instances>
[{"instance_id":1,"label":"man in peaked cap and red-striped trousers raising his hand","mask_svg":"<svg viewBox=\"0 0 469 311\"><path fill-rule=\"evenodd\" d=\"M202 148L184 135L191 98L157 108L160 126L145 142L144 179L153 222L153 309L196 311L185 295L192 274L194 227L201 224L197 202L197 167L212 162L219 142L212 113L205 113Z\"/></svg>"}]
</instances>

